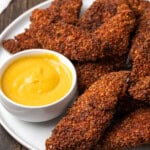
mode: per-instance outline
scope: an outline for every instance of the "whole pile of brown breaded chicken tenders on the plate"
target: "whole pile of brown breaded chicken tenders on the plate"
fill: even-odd
[[[43,48],[75,65],[79,97],[46,140],[47,150],[121,150],[150,144],[150,2],[54,0],[3,41],[10,53]]]

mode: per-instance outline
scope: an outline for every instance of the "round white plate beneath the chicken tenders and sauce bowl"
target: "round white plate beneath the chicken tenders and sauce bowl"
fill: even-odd
[[[94,0],[83,0],[82,12],[87,9]],[[1,42],[3,39],[13,38],[15,35],[24,31],[28,27],[30,21],[29,16],[35,8],[46,8],[52,0],[41,3],[32,9],[25,12],[18,17],[13,23],[11,23],[0,36],[0,66],[10,56],[6,52]],[[81,12],[81,13],[82,13]],[[5,108],[0,104],[0,123],[7,130],[7,132],[13,136],[18,142],[32,150],[44,150],[45,140],[51,135],[52,129],[58,122],[58,118],[44,123],[29,123],[16,119],[9,114]],[[137,148],[136,150],[149,150],[150,146]],[[135,149],[134,149],[135,150]]]

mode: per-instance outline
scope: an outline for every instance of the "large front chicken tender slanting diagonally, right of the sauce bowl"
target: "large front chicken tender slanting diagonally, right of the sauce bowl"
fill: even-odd
[[[81,95],[46,141],[47,150],[90,150],[101,138],[119,97],[127,90],[128,71],[101,77]]]

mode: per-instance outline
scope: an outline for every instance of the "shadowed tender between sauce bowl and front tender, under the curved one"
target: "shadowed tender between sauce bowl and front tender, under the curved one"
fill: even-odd
[[[126,68],[126,55],[102,59],[97,62],[77,62],[74,65],[78,76],[78,90],[81,94],[102,75],[112,71],[124,70]]]

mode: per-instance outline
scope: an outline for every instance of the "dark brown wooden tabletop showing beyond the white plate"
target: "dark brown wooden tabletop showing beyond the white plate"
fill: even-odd
[[[12,0],[9,7],[2,14],[0,14],[0,33],[20,14],[43,1],[44,0]],[[27,149],[15,141],[0,125],[0,150]]]

